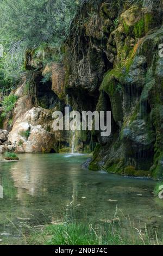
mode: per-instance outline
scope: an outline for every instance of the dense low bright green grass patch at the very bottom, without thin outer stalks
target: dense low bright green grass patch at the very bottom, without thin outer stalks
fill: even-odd
[[[29,245],[162,245],[157,234],[151,238],[145,231],[130,228],[126,233],[120,227],[98,227],[86,223],[51,224],[43,231],[29,236]]]

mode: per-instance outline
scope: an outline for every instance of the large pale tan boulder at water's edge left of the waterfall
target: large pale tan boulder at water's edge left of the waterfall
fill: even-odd
[[[55,152],[55,135],[47,131],[52,121],[52,112],[41,107],[34,107],[17,118],[9,133],[9,140],[15,145],[15,151]]]

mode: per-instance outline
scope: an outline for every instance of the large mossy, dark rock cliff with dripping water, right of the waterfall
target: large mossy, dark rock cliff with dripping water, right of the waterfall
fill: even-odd
[[[124,4],[120,14],[115,1],[101,1],[98,9],[85,5],[82,15],[82,36],[72,31],[79,44],[65,63],[66,92],[74,109],[112,112],[111,135],[92,132],[97,147],[89,168],[163,177],[160,8]]]

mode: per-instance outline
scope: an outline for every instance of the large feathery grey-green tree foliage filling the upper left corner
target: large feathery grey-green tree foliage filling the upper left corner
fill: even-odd
[[[2,0],[0,2],[0,43],[4,47],[0,79],[17,81],[25,71],[23,62],[32,52],[47,44],[60,54],[77,10],[85,0]],[[39,48],[39,51],[41,49]],[[1,74],[2,73],[2,74]]]

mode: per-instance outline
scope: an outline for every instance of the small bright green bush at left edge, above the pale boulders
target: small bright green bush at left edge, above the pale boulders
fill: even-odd
[[[2,108],[3,108],[3,113],[1,114],[2,117],[6,117],[8,112],[12,111],[16,101],[17,101],[17,97],[15,95],[9,95],[4,97],[4,100],[2,102]]]

